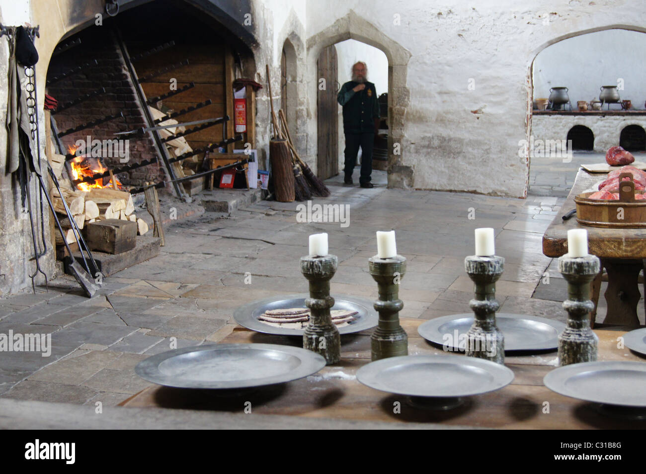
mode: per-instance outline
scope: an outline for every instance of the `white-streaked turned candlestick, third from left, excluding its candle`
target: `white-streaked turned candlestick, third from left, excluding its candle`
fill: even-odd
[[[464,270],[475,283],[475,299],[469,302],[474,324],[466,332],[466,355],[505,363],[505,338],[495,325],[500,308],[495,299],[495,282],[503,274],[505,259],[492,255],[471,255],[464,259]]]

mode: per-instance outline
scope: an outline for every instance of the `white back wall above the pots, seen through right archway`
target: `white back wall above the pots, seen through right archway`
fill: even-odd
[[[633,109],[646,101],[646,34],[605,30],[560,41],[534,61],[534,98],[550,96],[550,87],[568,87],[572,107],[599,98],[602,85],[620,85],[621,100]],[[618,106],[612,106],[616,109]]]

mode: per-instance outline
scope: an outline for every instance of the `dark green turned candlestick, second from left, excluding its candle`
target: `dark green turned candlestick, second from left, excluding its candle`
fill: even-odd
[[[368,268],[379,287],[379,299],[375,301],[379,325],[370,336],[371,358],[408,356],[408,336],[399,324],[399,312],[404,307],[399,299],[399,281],[406,273],[406,257],[382,259],[375,255],[368,260]]]

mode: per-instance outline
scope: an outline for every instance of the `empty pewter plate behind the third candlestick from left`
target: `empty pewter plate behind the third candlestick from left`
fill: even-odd
[[[451,314],[422,323],[417,332],[446,350],[464,351],[466,338],[461,335],[466,334],[473,323],[473,313]],[[505,336],[505,352],[557,349],[558,336],[565,329],[565,324],[559,321],[526,314],[497,313],[495,323]]]

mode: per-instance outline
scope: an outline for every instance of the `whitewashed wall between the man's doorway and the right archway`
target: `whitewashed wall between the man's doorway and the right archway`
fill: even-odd
[[[519,160],[517,147],[531,124],[532,61],[548,45],[582,32],[613,25],[645,30],[646,3],[310,1],[308,38],[341,34],[344,21],[358,25],[344,20],[351,15],[411,54],[405,83],[410,103],[404,104],[402,154],[396,157],[398,169],[412,175],[408,186],[523,197],[528,162]],[[377,36],[370,28],[350,28],[350,38],[377,42]],[[307,60],[310,66],[315,61]],[[308,90],[315,79],[310,72]],[[309,136],[315,137],[313,95],[308,109]],[[316,144],[307,145],[307,155],[315,156]]]

